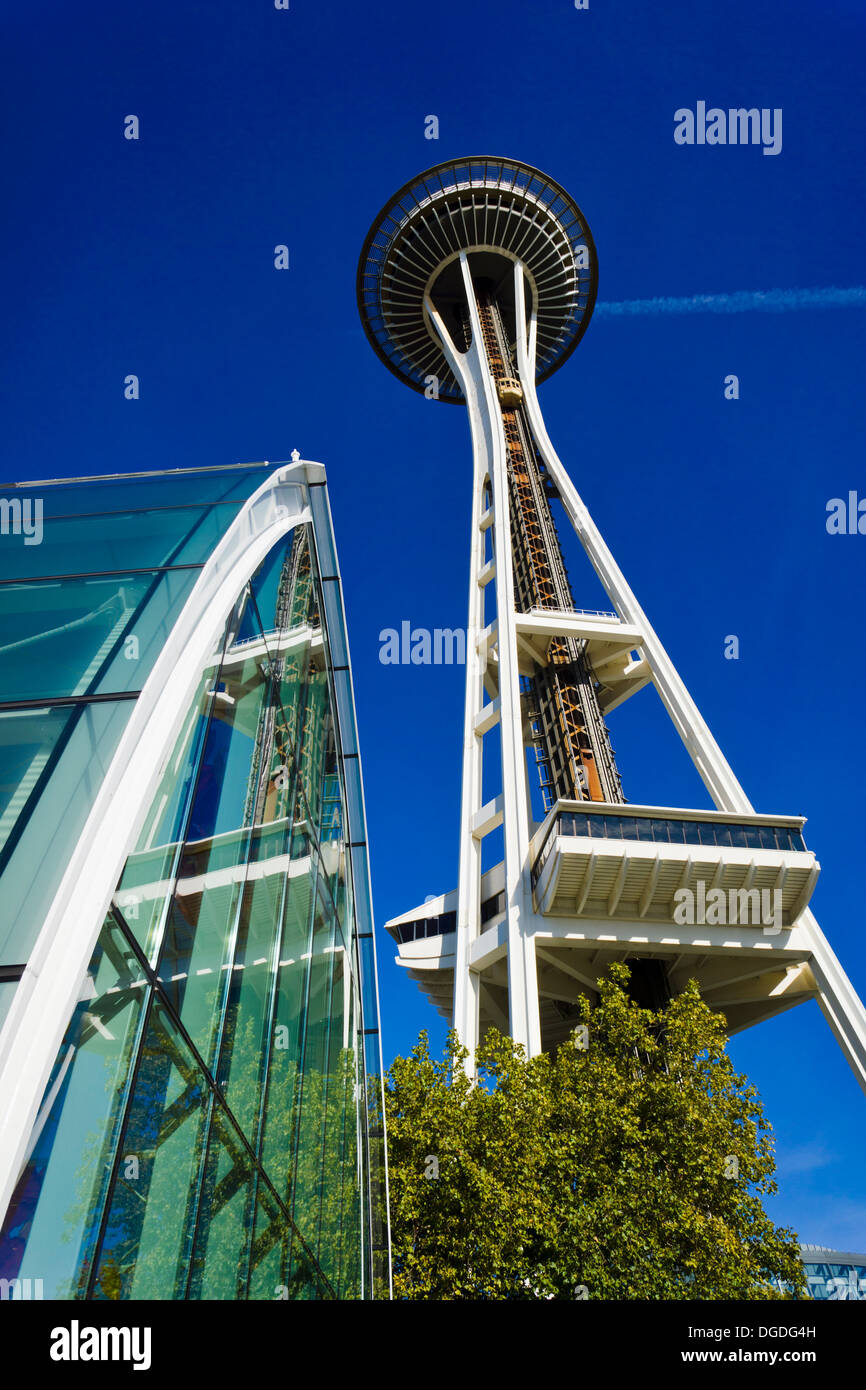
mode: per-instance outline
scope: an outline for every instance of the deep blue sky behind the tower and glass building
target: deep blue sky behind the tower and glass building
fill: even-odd
[[[3,481],[295,448],[327,464],[379,922],[456,881],[461,671],[382,666],[378,634],[466,621],[471,477],[463,411],[400,386],[363,336],[368,224],[423,168],[506,154],[581,204],[599,300],[862,286],[865,29],[858,0],[3,0]],[[781,153],[676,145],[699,100],[781,108]],[[866,495],[863,327],[862,303],[599,313],[542,389],[746,792],[809,817],[813,905],[860,994],[866,538],[824,518]],[[610,724],[631,801],[708,803],[652,691]],[[379,962],[386,1061],[421,1026],[438,1044],[386,938]],[[776,1127],[774,1218],[866,1248],[866,1102],[817,1006],[731,1052]]]

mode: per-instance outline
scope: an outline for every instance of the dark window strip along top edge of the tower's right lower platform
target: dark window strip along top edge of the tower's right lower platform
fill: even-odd
[[[620,812],[560,810],[553,817],[532,865],[532,887],[557,835],[588,840],[638,840],[666,845],[712,845],[734,849],[806,852],[802,833],[774,821],[763,824],[721,820],[678,820],[666,816],[623,816]]]

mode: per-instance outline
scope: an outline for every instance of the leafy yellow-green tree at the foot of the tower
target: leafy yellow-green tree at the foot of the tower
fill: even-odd
[[[653,1013],[612,966],[556,1055],[423,1033],[386,1073],[398,1298],[778,1298],[771,1130],[695,981]]]

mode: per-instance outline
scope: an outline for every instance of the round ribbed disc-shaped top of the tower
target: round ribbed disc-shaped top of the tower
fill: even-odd
[[[503,289],[525,270],[538,318],[537,379],[545,381],[580,342],[595,304],[595,245],[574,199],[546,174],[517,160],[470,157],[427,170],[388,200],[364,242],[357,302],[367,338],[413,391],[435,375],[438,399],[461,402],[427,296],[449,322],[463,310],[460,253],[473,275]],[[509,314],[512,322],[509,325]]]

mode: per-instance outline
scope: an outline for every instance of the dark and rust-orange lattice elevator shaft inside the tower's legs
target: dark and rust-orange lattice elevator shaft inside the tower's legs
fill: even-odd
[[[574,609],[571,585],[550,512],[542,464],[514,379],[512,354],[495,297],[477,292],[488,366],[496,382],[507,449],[514,602],[532,609]],[[556,799],[621,802],[620,776],[598,703],[587,642],[556,637],[548,663],[528,677],[528,727],[545,810]]]

